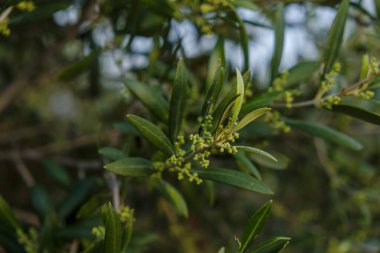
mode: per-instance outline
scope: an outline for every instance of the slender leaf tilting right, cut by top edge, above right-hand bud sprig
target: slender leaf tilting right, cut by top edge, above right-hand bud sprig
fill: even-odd
[[[325,66],[323,71],[324,74],[330,72],[334,61],[338,56],[339,49],[343,40],[344,27],[346,25],[349,7],[350,1],[343,0],[329,31],[327,44],[322,59],[322,63]]]

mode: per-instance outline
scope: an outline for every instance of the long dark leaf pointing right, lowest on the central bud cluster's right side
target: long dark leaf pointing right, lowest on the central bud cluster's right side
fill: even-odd
[[[272,190],[262,181],[240,171],[214,168],[192,170],[192,172],[198,173],[199,177],[203,179],[235,186],[248,191],[273,194]]]

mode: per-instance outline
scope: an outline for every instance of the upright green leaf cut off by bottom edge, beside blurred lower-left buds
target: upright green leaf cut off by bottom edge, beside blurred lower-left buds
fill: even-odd
[[[105,216],[105,237],[103,252],[104,253],[120,253],[121,252],[121,224],[119,216],[108,203],[103,207]]]

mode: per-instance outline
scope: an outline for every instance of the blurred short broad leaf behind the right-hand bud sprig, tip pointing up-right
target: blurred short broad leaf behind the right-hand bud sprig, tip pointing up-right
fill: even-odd
[[[320,63],[317,61],[304,61],[296,64],[289,69],[286,79],[286,88],[291,88],[305,82],[319,69]]]

